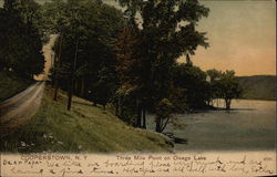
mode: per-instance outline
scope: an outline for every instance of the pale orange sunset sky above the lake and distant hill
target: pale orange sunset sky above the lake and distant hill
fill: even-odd
[[[192,56],[202,70],[234,70],[236,75],[276,74],[275,0],[202,0],[208,18],[197,29],[207,32],[209,48]],[[184,62],[185,58],[178,61]]]

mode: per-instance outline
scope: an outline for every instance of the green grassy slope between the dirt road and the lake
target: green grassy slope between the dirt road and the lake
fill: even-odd
[[[3,152],[168,152],[170,142],[157,134],[127,126],[92,103],[73,97],[71,112],[66,96],[52,101],[53,90],[45,87],[42,105],[23,127],[4,137]]]

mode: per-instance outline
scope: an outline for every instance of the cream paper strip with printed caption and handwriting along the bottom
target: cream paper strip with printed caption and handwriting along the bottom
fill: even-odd
[[[227,46],[226,46],[227,48]],[[197,52],[196,52],[197,53]],[[246,65],[249,70],[248,65]],[[2,154],[2,177],[274,176],[275,150],[168,154]]]

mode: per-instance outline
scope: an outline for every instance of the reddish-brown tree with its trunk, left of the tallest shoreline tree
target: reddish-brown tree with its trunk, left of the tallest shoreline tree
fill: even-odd
[[[125,27],[116,40],[116,71],[119,73],[122,96],[134,95],[135,101],[133,103],[135,105],[127,104],[126,106],[136,116],[135,125],[146,128],[146,108],[142,104],[145,63],[141,60],[140,44],[140,31],[132,25]],[[123,104],[120,105],[124,106]],[[133,107],[135,108],[133,110]]]

